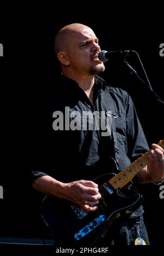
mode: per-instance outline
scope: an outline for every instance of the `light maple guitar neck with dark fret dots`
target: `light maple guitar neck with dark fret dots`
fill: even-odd
[[[164,149],[164,139],[160,141],[158,145]],[[109,183],[113,186],[113,188],[122,188],[128,182],[132,181],[134,176],[136,176],[136,174],[148,164],[148,154],[150,150],[109,180]]]

